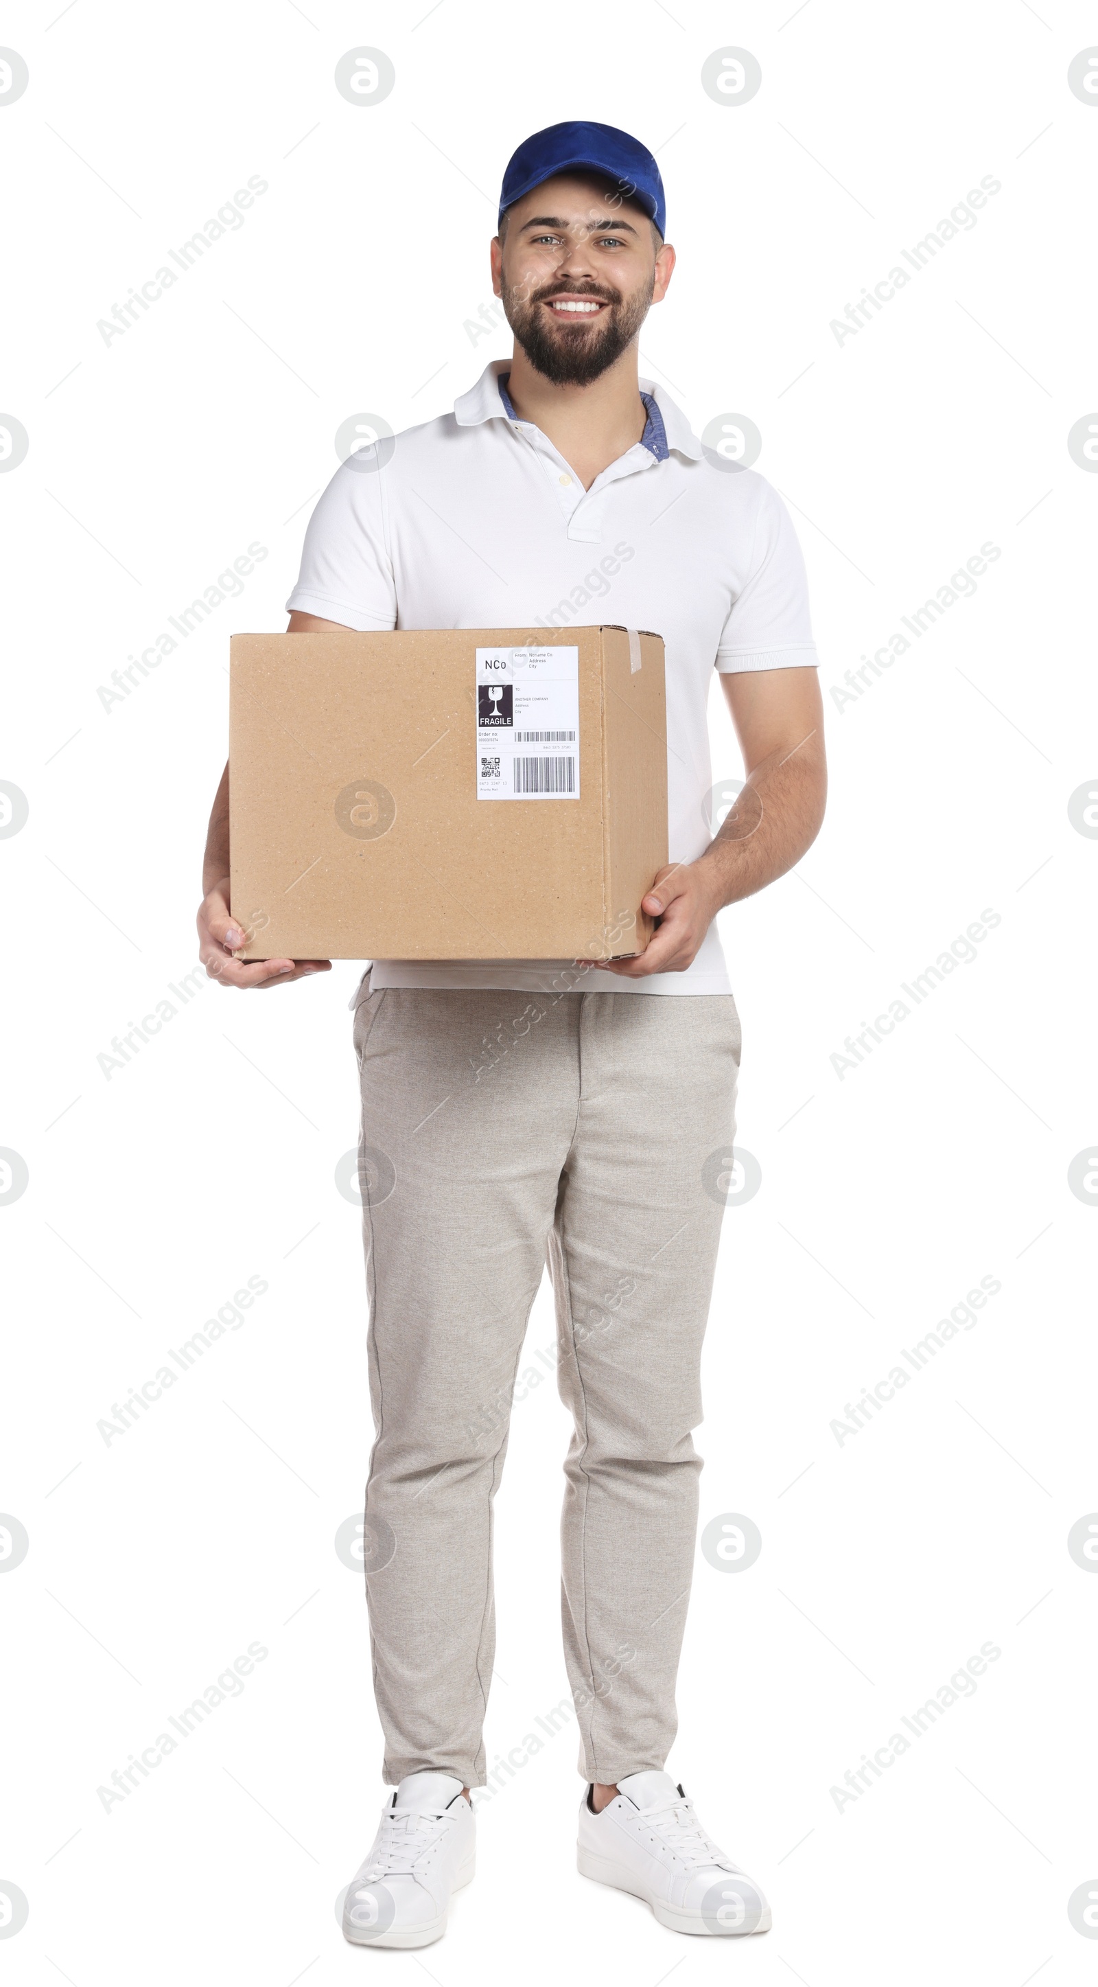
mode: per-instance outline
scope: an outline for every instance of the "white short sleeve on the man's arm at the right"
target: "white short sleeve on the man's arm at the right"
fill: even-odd
[[[717,670],[814,670],[820,666],[808,616],[808,580],[792,519],[774,489],[755,521],[751,570],[717,644]]]

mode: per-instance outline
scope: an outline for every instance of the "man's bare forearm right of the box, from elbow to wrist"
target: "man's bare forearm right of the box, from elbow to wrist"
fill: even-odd
[[[727,821],[697,862],[717,908],[764,890],[800,862],[820,833],[826,791],[818,733],[753,767]]]

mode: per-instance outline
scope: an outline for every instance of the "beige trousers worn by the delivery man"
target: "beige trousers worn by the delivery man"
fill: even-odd
[[[562,1615],[580,1772],[612,1784],[661,1768],[697,1530],[691,1429],[723,1216],[707,1182],[733,1143],[735,1001],[369,992],[367,976],[353,1033],[385,1778],[433,1768],[484,1784],[492,1498],[546,1252],[574,1419]]]

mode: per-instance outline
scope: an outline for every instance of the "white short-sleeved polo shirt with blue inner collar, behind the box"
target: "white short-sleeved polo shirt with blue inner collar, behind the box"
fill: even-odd
[[[349,457],[312,513],[286,606],[347,628],[524,628],[619,622],[663,636],[667,846],[713,839],[713,670],[816,666],[804,560],[780,497],[719,469],[663,387],[647,427],[590,491],[500,397],[492,360],[453,413]],[[685,974],[627,980],[566,960],[375,960],[373,988],[729,994],[717,924]]]

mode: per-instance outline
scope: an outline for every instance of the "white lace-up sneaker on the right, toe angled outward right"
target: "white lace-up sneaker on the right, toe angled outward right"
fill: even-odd
[[[743,1935],[770,1929],[758,1884],[705,1834],[669,1772],[631,1772],[596,1814],[580,1802],[580,1876],[631,1890],[671,1931]]]

